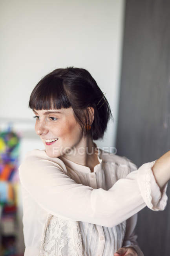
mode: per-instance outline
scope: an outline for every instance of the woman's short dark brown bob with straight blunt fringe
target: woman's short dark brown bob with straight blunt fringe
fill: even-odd
[[[106,97],[86,69],[67,67],[53,70],[37,83],[29,98],[29,108],[34,110],[69,107],[73,108],[79,123],[81,139],[90,135],[92,140],[103,140],[108,121],[113,116]],[[88,107],[94,108],[92,124]],[[86,129],[87,124],[91,125],[90,130]]]

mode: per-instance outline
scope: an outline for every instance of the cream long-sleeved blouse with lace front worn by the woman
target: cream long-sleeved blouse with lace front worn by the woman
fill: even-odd
[[[93,173],[64,156],[27,152],[19,166],[24,256],[113,256],[128,245],[143,256],[137,212],[164,210],[168,183],[161,193],[151,169],[156,160],[137,169],[128,158],[98,149]]]

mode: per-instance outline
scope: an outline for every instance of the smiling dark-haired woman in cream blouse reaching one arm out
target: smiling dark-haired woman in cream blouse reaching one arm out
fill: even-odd
[[[137,212],[165,209],[170,177],[167,167],[160,172],[168,160],[137,170],[128,158],[97,147],[93,140],[103,139],[112,114],[85,69],[44,76],[29,108],[45,150],[28,152],[19,167],[24,256],[143,256]]]

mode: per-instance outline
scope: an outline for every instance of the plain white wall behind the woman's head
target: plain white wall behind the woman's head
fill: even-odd
[[[82,67],[106,93],[115,120],[110,121],[104,142],[97,145],[113,146],[123,14],[123,0],[1,1],[1,124],[29,121],[34,133],[28,102],[37,82],[53,69]]]

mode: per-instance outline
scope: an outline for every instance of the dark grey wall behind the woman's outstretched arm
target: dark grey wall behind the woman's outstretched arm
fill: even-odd
[[[170,1],[128,0],[124,22],[116,148],[140,167],[170,150]],[[136,232],[144,256],[170,255],[169,199],[141,210]]]

